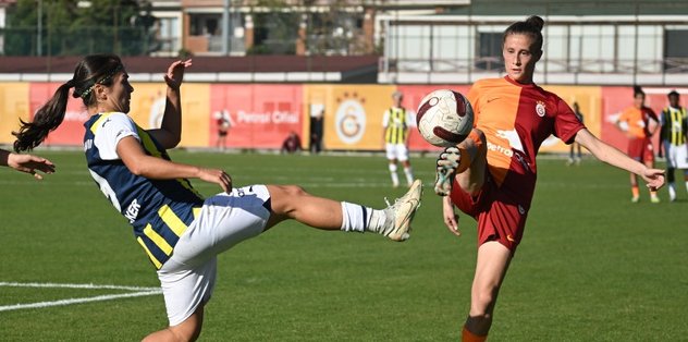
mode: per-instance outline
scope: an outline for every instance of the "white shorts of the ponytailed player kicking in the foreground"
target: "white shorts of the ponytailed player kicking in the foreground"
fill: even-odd
[[[260,234],[269,217],[270,193],[265,185],[234,188],[229,195],[206,199],[170,259],[158,270],[171,327],[210,300],[217,255]]]

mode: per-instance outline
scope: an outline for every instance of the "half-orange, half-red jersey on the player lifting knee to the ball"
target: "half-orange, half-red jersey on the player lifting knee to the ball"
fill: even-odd
[[[502,191],[513,192],[529,207],[542,142],[554,135],[570,144],[585,125],[555,94],[508,76],[478,81],[467,97],[475,112],[474,124],[488,141],[492,178]]]

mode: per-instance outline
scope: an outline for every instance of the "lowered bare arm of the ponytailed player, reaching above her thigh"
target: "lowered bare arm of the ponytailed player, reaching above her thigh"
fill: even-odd
[[[226,172],[148,156],[134,136],[123,137],[116,145],[116,154],[136,175],[151,180],[200,179],[220,185],[224,192],[232,190],[232,178]]]

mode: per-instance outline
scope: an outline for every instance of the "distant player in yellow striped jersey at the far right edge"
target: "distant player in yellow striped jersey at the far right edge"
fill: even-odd
[[[676,90],[672,90],[667,97],[668,107],[662,110],[660,117],[660,152],[664,149],[668,199],[674,201],[676,200],[674,170],[684,170],[684,181],[688,190],[688,114],[686,114],[686,108],[680,107],[679,95]]]

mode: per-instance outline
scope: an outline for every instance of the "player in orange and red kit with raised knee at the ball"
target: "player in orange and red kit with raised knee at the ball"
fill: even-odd
[[[481,80],[468,93],[475,129],[438,159],[435,192],[447,228],[459,235],[454,205],[478,221],[478,258],[463,341],[484,341],[500,285],[520,243],[536,184],[536,155],[550,134],[579,143],[598,159],[642,176],[651,190],[663,171],[649,169],[594,137],[558,96],[532,82],[542,56],[539,16],[504,32],[506,76]],[[446,176],[445,176],[446,175]],[[455,176],[454,176],[455,175]]]

